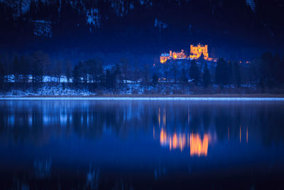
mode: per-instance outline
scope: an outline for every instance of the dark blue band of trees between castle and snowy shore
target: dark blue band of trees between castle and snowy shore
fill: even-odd
[[[263,53],[251,63],[219,58],[217,63],[204,58],[187,60],[184,63],[170,60],[165,64],[131,64],[121,58],[114,65],[104,64],[101,58],[80,61],[72,65],[70,60],[50,60],[48,53],[36,51],[31,55],[15,54],[13,58],[0,57],[0,88],[33,88],[38,90],[44,83],[44,76],[57,78],[73,88],[116,89],[128,83],[141,85],[179,84],[208,88],[218,85],[221,88],[239,88],[253,84],[258,88],[282,87],[284,83],[284,58],[278,54]],[[62,76],[65,81],[62,81]],[[13,79],[11,79],[13,78]],[[54,81],[52,83],[55,83]]]

